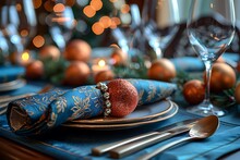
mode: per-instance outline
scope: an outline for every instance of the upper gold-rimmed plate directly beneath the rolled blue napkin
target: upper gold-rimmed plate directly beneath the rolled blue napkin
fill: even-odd
[[[161,100],[147,106],[139,106],[135,111],[124,118],[93,118],[88,120],[73,120],[71,123],[77,124],[118,124],[146,121],[169,112],[172,103],[169,100]]]

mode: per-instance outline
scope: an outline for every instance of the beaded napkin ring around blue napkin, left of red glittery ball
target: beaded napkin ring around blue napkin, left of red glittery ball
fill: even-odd
[[[109,100],[110,94],[108,93],[108,86],[106,84],[103,84],[103,83],[97,83],[96,88],[99,89],[103,94],[103,97],[105,99],[104,115],[108,116],[111,113],[111,102]]]

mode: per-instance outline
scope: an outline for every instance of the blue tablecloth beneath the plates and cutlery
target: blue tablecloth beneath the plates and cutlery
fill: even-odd
[[[28,83],[27,86],[11,91],[11,95],[22,94],[25,91],[37,91],[44,84]],[[163,127],[173,122],[199,118],[187,113],[183,106],[179,103],[180,111],[171,119],[145,125],[136,128],[129,128],[122,131],[87,131],[79,128],[57,127],[50,133],[37,137],[23,137],[17,136],[10,131],[7,123],[5,115],[0,116],[0,135],[8,137],[14,141],[23,144],[27,147],[36,149],[46,155],[52,156],[58,159],[110,159],[108,155],[103,157],[94,157],[91,155],[93,147],[129,138],[155,128]],[[159,155],[160,159],[216,159],[229,151],[240,148],[240,112],[238,108],[226,116],[220,118],[220,126],[215,135],[203,141],[189,143],[180,147],[166,150]],[[136,153],[133,153],[123,159],[136,159],[143,153],[152,151],[173,139],[187,136],[187,134],[176,136],[171,139],[165,140]]]

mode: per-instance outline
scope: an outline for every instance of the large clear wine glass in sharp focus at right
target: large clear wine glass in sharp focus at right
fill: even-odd
[[[213,63],[225,52],[235,36],[233,0],[193,0],[187,23],[190,44],[205,64],[206,94],[204,101],[188,111],[201,115],[221,116],[224,110],[211,103],[209,82]]]

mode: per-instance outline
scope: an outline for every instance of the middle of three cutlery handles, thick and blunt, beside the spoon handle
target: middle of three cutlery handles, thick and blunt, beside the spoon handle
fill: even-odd
[[[159,143],[161,140],[165,140],[167,138],[170,138],[172,136],[173,136],[173,134],[171,134],[171,133],[163,133],[163,134],[158,134],[158,135],[153,135],[151,137],[146,137],[141,140],[133,141],[133,143],[117,147],[117,148],[110,150],[109,153],[110,153],[111,158],[119,159],[119,158],[129,156],[135,151],[139,151],[147,146],[151,146],[151,145],[154,145],[154,144]]]

